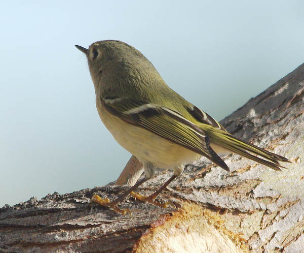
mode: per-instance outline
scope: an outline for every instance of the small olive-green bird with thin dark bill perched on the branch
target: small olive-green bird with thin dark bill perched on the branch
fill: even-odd
[[[226,171],[229,168],[217,153],[237,153],[274,170],[283,167],[279,161],[289,162],[227,133],[220,123],[172,90],[134,47],[114,40],[95,42],[89,49],[76,47],[87,56],[102,122],[144,166],[145,179],[119,201],[151,178],[155,167],[173,170],[173,177],[148,200],[154,199],[183,172],[185,164],[202,155]],[[98,196],[93,201],[110,207],[119,202],[109,204]]]

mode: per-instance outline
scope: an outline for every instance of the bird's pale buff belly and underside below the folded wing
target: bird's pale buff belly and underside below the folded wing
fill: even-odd
[[[159,168],[175,171],[179,170],[178,167],[201,157],[201,154],[125,122],[105,109],[101,111],[99,107],[102,105],[98,100],[96,106],[102,122],[115,140],[142,163],[149,162]],[[216,152],[222,153],[223,151],[216,144],[211,144],[211,147]]]

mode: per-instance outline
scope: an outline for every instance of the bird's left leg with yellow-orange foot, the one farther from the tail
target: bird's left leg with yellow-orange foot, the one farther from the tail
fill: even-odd
[[[98,195],[93,195],[91,202],[96,202],[102,206],[112,208],[116,212],[119,212],[123,215],[125,215],[127,213],[132,215],[131,211],[129,209],[119,209],[117,207],[117,204],[119,204],[121,201],[123,201],[130,193],[132,193],[139,185],[144,183],[146,180],[148,180],[148,179],[147,178],[141,179],[136,184],[134,184],[130,189],[128,189],[128,191],[126,191],[123,195],[121,195],[119,198],[117,198],[116,200],[114,200],[112,202],[110,202],[110,200],[108,198],[102,199]]]

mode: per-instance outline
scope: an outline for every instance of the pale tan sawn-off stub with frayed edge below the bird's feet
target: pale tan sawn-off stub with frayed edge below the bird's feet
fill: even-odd
[[[217,211],[185,202],[172,216],[151,226],[133,252],[248,252],[242,235],[223,224]]]

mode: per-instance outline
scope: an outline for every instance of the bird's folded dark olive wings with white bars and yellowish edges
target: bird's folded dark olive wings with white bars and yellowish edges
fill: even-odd
[[[229,168],[224,161],[210,147],[209,137],[205,135],[204,130],[199,128],[192,121],[183,117],[179,112],[164,106],[158,106],[143,101],[134,101],[128,98],[100,99],[105,109],[112,115],[115,115],[130,124],[136,125],[137,127],[144,128],[189,150],[204,155],[221,168],[229,171]],[[206,121],[206,117],[202,111],[200,112],[194,109],[192,111],[190,110],[189,113],[193,113],[195,115],[193,117],[198,118],[198,121]],[[201,119],[200,113],[203,114]],[[221,128],[220,124],[215,122],[213,123],[216,124],[218,128]]]

